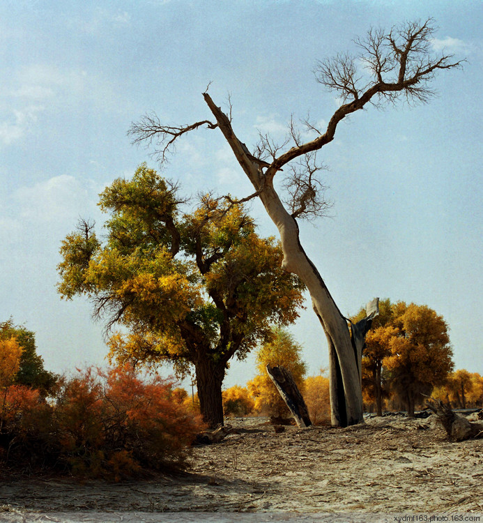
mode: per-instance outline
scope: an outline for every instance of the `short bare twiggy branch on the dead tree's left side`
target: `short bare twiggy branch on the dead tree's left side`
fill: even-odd
[[[176,139],[201,126],[215,129],[217,123],[203,120],[185,126],[164,126],[153,112],[142,116],[138,122],[132,123],[128,130],[128,136],[134,137],[132,144],[143,143],[146,144],[146,147],[149,147],[154,143],[157,149],[153,151],[151,156],[155,157],[160,163],[164,163],[167,161],[167,155],[174,149]]]

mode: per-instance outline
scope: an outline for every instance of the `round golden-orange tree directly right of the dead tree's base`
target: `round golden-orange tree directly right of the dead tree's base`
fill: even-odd
[[[445,383],[452,349],[443,317],[427,305],[380,301],[362,353],[362,386],[382,415],[383,397],[392,392],[414,414],[415,402]],[[365,312],[361,309],[352,321]]]

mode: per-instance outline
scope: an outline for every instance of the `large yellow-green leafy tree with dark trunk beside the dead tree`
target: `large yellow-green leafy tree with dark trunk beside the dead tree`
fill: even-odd
[[[100,195],[110,217],[101,243],[81,222],[61,246],[59,292],[91,298],[96,317],[129,334],[109,340],[118,363],[194,367],[201,414],[223,423],[222,382],[243,359],[298,317],[303,285],[281,268],[282,250],[261,238],[243,204],[205,195],[182,213],[176,186],[141,165]]]

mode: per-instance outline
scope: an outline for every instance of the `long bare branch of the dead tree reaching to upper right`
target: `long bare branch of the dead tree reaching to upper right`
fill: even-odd
[[[363,109],[368,103],[381,105],[404,98],[409,103],[427,102],[434,95],[429,82],[440,70],[461,68],[464,60],[453,61],[451,54],[436,56],[431,50],[434,34],[432,20],[408,22],[392,28],[369,30],[364,40],[356,40],[362,50],[358,60],[366,66],[371,78],[362,85],[357,61],[347,54],[319,62],[317,81],[335,91],[344,103],[335,111],[323,135],[311,142],[298,144],[276,158],[266,171],[270,177],[286,163],[311,151],[321,149],[334,139],[337,125],[349,114]]]

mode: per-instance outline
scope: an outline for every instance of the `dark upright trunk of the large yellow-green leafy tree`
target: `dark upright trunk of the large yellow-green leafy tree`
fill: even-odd
[[[222,383],[224,367],[210,361],[209,356],[200,358],[194,365],[197,377],[199,409],[209,427],[223,425]]]

